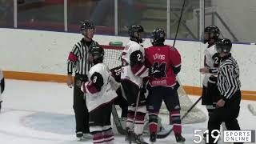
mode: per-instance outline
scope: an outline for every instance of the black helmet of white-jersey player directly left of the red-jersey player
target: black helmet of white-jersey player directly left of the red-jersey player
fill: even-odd
[[[140,38],[140,33],[143,33],[144,29],[141,25],[132,25],[129,27],[128,34],[130,36],[130,40],[142,43],[143,39]]]

